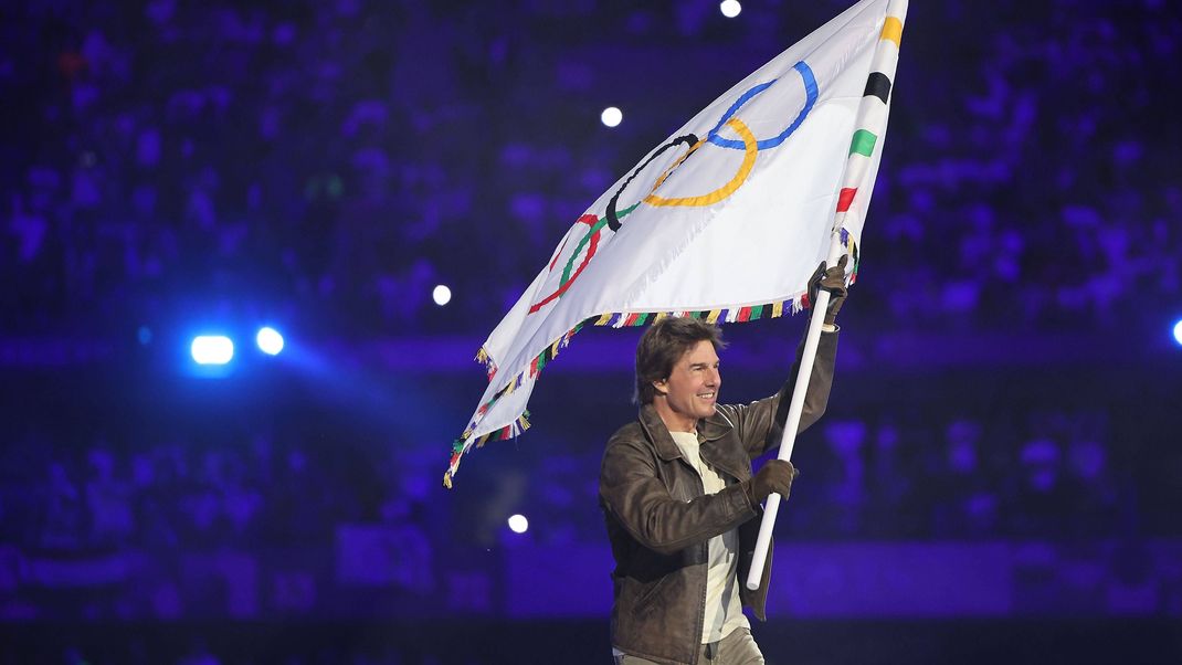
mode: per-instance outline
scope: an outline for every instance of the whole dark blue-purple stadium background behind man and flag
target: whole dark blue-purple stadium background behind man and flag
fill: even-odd
[[[846,6],[2,4],[0,663],[608,661],[639,333],[580,332],[446,491],[469,359],[585,206]],[[1180,50],[1164,0],[913,4],[771,663],[1182,661]],[[804,324],[728,325],[723,398]]]

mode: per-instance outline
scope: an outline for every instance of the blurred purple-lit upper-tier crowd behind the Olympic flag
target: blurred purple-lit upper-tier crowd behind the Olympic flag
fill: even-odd
[[[845,2],[749,5],[22,2],[0,28],[0,332],[245,299],[363,335],[491,324],[703,96]],[[865,315],[1038,331],[1176,299],[1180,46],[1160,0],[914,17]]]

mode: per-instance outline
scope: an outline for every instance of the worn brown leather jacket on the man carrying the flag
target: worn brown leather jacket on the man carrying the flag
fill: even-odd
[[[799,372],[803,350],[801,343],[790,377]],[[823,333],[800,430],[825,411],[836,352],[837,333]],[[681,458],[651,404],[642,406],[639,418],[608,442],[599,506],[616,559],[611,609],[616,648],[656,663],[696,665],[706,620],[707,543],[734,528],[739,529],[736,583],[742,604],[766,620],[772,553],[759,589],[748,591],[760,523],[754,517],[761,516],[762,508],[751,506],[742,482],[752,477],[751,461],[779,445],[793,383],[788,380],[778,395],[759,402],[719,405],[714,416],[697,423],[702,459],[736,481],[717,494],[703,495],[701,477]]]

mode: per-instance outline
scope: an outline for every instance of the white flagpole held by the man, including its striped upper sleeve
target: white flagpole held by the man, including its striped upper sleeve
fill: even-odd
[[[885,74],[886,79],[891,83],[895,79],[895,66],[898,64],[898,41],[903,22],[907,20],[907,4],[908,0],[890,0],[888,2],[883,32],[878,39],[878,44],[875,46],[875,57],[870,67],[871,72]],[[891,22],[892,20],[895,24]],[[878,120],[877,124],[881,126],[872,129],[881,137],[882,131],[885,129],[885,115],[879,113],[884,104],[882,99],[873,94],[864,96],[862,103],[858,105],[855,129],[865,129],[868,120],[873,118]],[[862,158],[860,155],[850,154],[845,167],[845,175],[842,178],[843,190],[846,188],[857,188],[862,183],[868,163],[869,159]],[[862,193],[862,196],[870,196],[870,193]],[[833,233],[829,245],[826,266],[834,266],[844,250],[840,240],[844,220],[845,211],[838,211],[833,220]],[[850,260],[852,261],[853,257],[851,256]],[[817,293],[817,301],[812,304],[812,314],[808,318],[808,334],[805,337],[805,351],[800,357],[800,370],[797,374],[797,383],[792,389],[788,418],[784,424],[784,436],[780,439],[779,458],[784,461],[792,458],[792,448],[797,442],[797,429],[800,426],[800,415],[804,411],[805,395],[808,392],[808,379],[812,377],[812,366],[817,358],[817,345],[820,343],[820,327],[825,322],[829,298],[829,292],[820,289]],[[752,591],[759,588],[759,583],[764,576],[764,565],[767,561],[767,549],[772,543],[772,530],[775,527],[775,513],[779,508],[780,495],[773,494],[768,496],[767,503],[764,504],[764,521],[759,526],[759,536],[755,540],[755,556],[752,559],[751,572],[747,574],[747,588]]]

